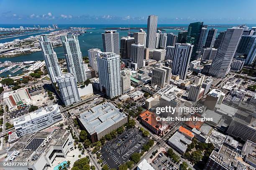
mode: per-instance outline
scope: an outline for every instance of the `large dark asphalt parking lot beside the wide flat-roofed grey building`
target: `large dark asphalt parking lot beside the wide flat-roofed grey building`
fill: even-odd
[[[140,152],[147,141],[148,138],[144,138],[137,128],[125,130],[123,134],[118,135],[117,138],[102,147],[100,159],[109,168],[118,168],[127,162],[133,153]]]

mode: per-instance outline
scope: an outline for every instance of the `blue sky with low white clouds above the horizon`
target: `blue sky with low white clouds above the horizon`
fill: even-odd
[[[0,0],[0,24],[256,23],[256,0]]]

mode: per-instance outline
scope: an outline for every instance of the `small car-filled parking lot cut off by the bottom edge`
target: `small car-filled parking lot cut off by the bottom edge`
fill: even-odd
[[[163,153],[152,161],[152,166],[155,170],[179,170],[179,163],[173,163],[172,160]]]

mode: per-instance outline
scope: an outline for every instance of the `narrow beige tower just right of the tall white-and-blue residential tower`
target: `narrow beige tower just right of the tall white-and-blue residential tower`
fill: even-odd
[[[121,71],[121,92],[125,95],[131,91],[130,69]]]

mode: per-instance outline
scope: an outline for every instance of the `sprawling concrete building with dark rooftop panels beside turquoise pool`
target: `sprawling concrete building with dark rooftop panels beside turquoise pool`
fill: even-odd
[[[26,162],[19,170],[54,169],[56,158],[68,159],[67,154],[74,150],[74,140],[66,129],[52,132],[36,132],[24,135],[8,150],[4,162]],[[13,170],[13,167],[5,168]]]

